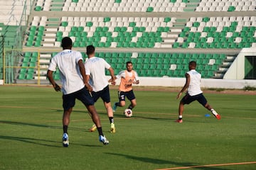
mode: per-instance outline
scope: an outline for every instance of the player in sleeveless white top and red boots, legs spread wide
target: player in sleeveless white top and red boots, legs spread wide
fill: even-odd
[[[201,74],[196,72],[196,62],[191,61],[188,64],[189,72],[186,72],[186,84],[183,86],[181,91],[178,93],[177,99],[181,97],[183,91],[188,89],[186,96],[184,96],[178,107],[178,120],[177,123],[182,123],[182,113],[184,110],[184,105],[189,104],[193,101],[198,101],[201,105],[207,108],[215,118],[220,120],[220,115],[208,104],[205,96],[203,96],[203,91],[201,91]]]

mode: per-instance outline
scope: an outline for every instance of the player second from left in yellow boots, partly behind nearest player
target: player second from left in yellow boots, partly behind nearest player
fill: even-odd
[[[92,86],[92,97],[96,102],[99,98],[102,98],[104,106],[107,110],[107,115],[110,119],[110,132],[115,132],[114,127],[114,115],[112,106],[110,103],[110,89],[108,81],[105,75],[105,69],[108,69],[112,77],[112,84],[115,84],[114,79],[114,69],[108,64],[104,59],[100,57],[95,57],[95,47],[93,45],[88,45],[86,47],[86,54],[88,60],[85,62],[85,74],[86,81]],[[90,131],[96,130],[96,125],[92,125]]]

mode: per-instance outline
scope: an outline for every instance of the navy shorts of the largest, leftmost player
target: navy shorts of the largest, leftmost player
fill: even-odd
[[[75,91],[72,94],[63,95],[63,108],[64,111],[68,111],[68,109],[73,108],[75,106],[75,99],[82,101],[85,106],[94,105],[94,101],[92,96],[90,95],[87,89],[82,88],[79,91]]]

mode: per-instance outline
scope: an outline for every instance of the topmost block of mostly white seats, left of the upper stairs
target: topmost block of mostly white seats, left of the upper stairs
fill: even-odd
[[[189,0],[38,0],[35,11],[183,12]],[[199,2],[200,0],[193,0]],[[62,8],[53,8],[58,4]]]

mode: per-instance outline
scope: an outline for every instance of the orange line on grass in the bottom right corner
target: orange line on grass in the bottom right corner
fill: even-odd
[[[173,169],[191,169],[191,168],[202,168],[211,166],[229,166],[229,165],[241,165],[241,164],[256,164],[256,162],[238,162],[238,163],[228,163],[228,164],[208,164],[208,165],[195,165],[195,166],[182,166],[169,169],[156,169],[156,170],[173,170]]]

